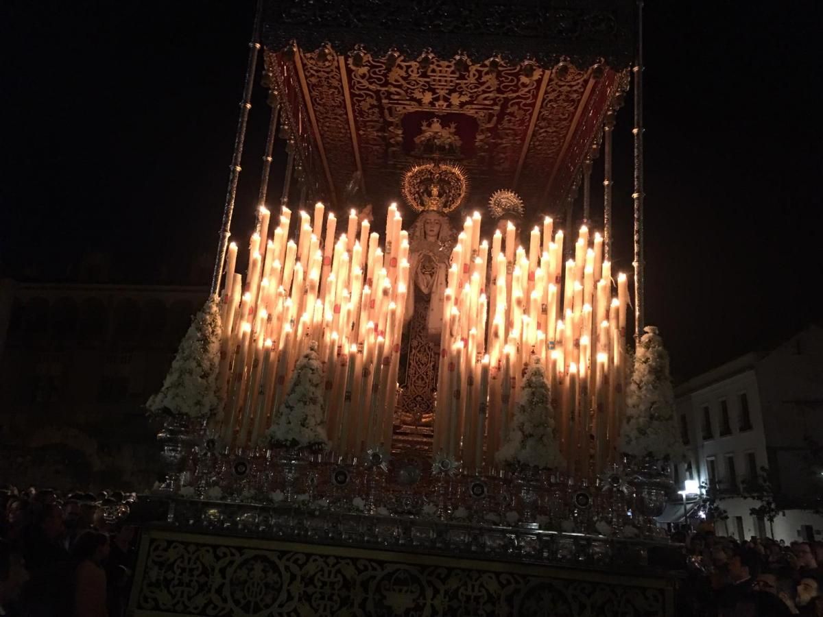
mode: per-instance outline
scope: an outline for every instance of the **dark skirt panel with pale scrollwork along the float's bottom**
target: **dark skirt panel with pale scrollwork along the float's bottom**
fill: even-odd
[[[674,582],[397,550],[147,531],[130,615],[672,615]],[[617,611],[617,612],[615,612]]]

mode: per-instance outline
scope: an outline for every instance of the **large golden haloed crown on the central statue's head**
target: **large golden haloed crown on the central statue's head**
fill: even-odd
[[[403,174],[403,198],[417,212],[453,211],[467,192],[466,172],[453,163],[423,163]]]

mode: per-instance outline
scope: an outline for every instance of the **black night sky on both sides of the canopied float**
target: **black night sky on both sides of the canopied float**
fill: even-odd
[[[252,0],[14,0],[0,12],[0,275],[77,281],[78,264],[103,253],[109,282],[207,284]],[[816,2],[646,3],[647,322],[676,378],[821,322],[821,26]],[[241,238],[267,112],[258,87]],[[631,113],[629,97],[615,270],[631,262]]]

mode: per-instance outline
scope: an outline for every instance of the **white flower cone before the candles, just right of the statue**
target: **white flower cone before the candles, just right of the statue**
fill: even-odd
[[[556,469],[563,465],[563,456],[554,431],[546,373],[535,363],[529,366],[523,379],[514,420],[496,458],[509,465]]]

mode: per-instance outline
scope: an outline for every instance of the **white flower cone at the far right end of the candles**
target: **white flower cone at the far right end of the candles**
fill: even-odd
[[[644,332],[626,392],[621,452],[635,457],[677,459],[682,457],[683,443],[677,430],[668,354],[656,327],[644,327]]]

